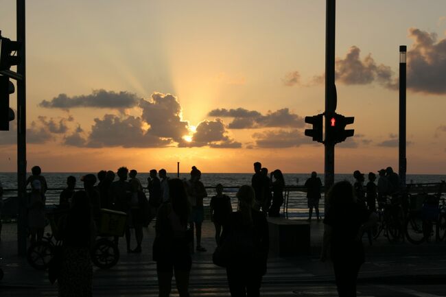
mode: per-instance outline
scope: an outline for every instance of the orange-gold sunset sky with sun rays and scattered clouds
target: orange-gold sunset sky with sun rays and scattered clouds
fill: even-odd
[[[15,3],[0,0],[12,40]],[[28,170],[323,171],[303,118],[325,108],[325,0],[44,0],[26,14]],[[338,173],[398,167],[399,45],[408,173],[446,173],[444,0],[337,1],[337,112],[355,117]],[[0,171],[16,171],[16,121]]]

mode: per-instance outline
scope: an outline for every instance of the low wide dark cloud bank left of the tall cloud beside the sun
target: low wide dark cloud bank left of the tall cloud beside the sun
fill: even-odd
[[[169,139],[161,139],[143,130],[143,121],[139,117],[118,117],[104,115],[95,119],[86,146],[88,147],[163,147],[169,145]]]

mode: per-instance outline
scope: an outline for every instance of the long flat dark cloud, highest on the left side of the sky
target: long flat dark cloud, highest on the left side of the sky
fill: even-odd
[[[60,108],[68,110],[69,108],[115,108],[125,109],[137,106],[139,98],[134,93],[113,92],[104,89],[93,90],[90,95],[79,95],[69,97],[67,94],[59,94],[50,101],[43,100],[39,106],[44,108]]]

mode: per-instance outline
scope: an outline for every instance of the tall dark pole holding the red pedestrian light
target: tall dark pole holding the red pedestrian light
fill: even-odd
[[[327,0],[327,16],[325,30],[325,198],[334,183],[334,141],[327,137],[329,119],[336,111],[335,87],[335,32],[336,32],[336,0]],[[328,140],[328,141],[327,141]],[[325,199],[327,210],[327,199]]]

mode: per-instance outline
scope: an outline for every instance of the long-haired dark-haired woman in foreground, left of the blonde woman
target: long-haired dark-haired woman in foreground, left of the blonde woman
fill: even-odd
[[[178,178],[169,180],[168,184],[170,197],[166,203],[161,204],[156,215],[156,238],[153,245],[159,296],[169,296],[175,273],[180,297],[188,297],[192,261],[187,237],[187,193],[183,181]]]

